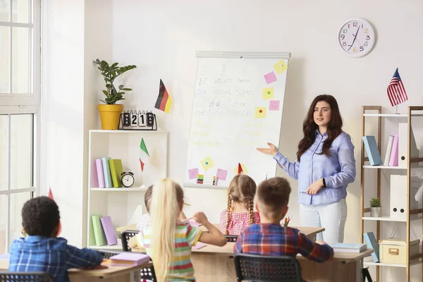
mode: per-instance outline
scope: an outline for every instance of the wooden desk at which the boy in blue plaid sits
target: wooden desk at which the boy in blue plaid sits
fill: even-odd
[[[139,282],[141,281],[140,270],[152,266],[152,262],[147,262],[139,266],[110,266],[109,261],[102,265],[107,269],[69,269],[68,275],[71,282]],[[8,259],[0,259],[0,270],[8,269]]]

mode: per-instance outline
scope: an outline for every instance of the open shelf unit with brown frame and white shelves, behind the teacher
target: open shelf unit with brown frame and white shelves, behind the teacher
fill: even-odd
[[[364,142],[361,142],[361,216],[362,221],[360,224],[360,234],[364,233],[364,221],[376,221],[376,241],[379,242],[381,238],[381,222],[384,221],[394,221],[394,222],[405,222],[407,229],[406,229],[406,238],[405,241],[408,245],[410,245],[410,223],[411,221],[415,219],[422,219],[421,214],[423,214],[423,209],[410,209],[410,176],[411,176],[411,168],[419,167],[418,164],[423,162],[423,158],[417,157],[417,158],[411,158],[410,156],[410,131],[412,128],[412,117],[422,117],[423,114],[414,114],[415,111],[418,111],[419,113],[422,113],[423,106],[408,106],[407,114],[382,114],[381,113],[382,107],[381,106],[362,106],[362,136],[366,135],[366,123],[365,118],[366,117],[376,117],[378,124],[377,124],[377,131],[378,136],[377,138],[377,144],[379,152],[381,152],[381,122],[382,118],[403,118],[406,119],[408,124],[408,152],[407,152],[407,167],[400,167],[400,166],[369,166],[369,158],[364,157]],[[376,114],[369,114],[366,111],[378,111]],[[414,112],[414,113],[413,113]],[[374,121],[374,120],[373,120]],[[398,123],[396,121],[396,123]],[[403,121],[405,122],[405,121]],[[417,166],[415,166],[417,164]],[[376,179],[376,197],[381,197],[381,169],[393,169],[396,170],[395,174],[403,174],[406,173],[407,175],[407,217],[406,219],[398,219],[398,218],[391,218],[391,216],[382,216],[382,217],[370,217],[370,216],[364,216],[364,214],[370,212],[369,207],[364,207],[364,188],[366,187],[365,183],[365,171],[367,169],[376,169],[377,171],[377,179]],[[385,191],[386,189],[384,189]],[[368,204],[368,202],[366,203]],[[363,236],[361,236],[361,242],[363,243]],[[408,253],[408,252],[407,252]],[[376,279],[375,281],[380,281],[380,268],[379,266],[388,266],[388,267],[401,267],[405,268],[406,271],[406,277],[405,281],[410,282],[410,266],[416,265],[416,264],[422,264],[422,257],[423,257],[423,250],[420,250],[419,255],[413,256],[416,259],[419,258],[417,262],[410,263],[410,259],[408,258],[405,264],[388,264],[388,263],[381,263],[381,262],[373,262],[371,258],[364,259],[364,265],[367,266],[376,266]],[[423,264],[422,264],[422,275],[423,275]]]

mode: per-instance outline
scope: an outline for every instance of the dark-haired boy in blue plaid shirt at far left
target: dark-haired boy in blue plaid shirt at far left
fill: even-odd
[[[23,205],[22,225],[27,236],[13,241],[9,271],[45,271],[54,281],[69,281],[68,269],[102,263],[95,250],[78,249],[58,238],[59,207],[49,197],[36,197]]]

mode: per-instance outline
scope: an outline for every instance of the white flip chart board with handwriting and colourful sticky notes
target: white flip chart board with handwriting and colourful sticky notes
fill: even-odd
[[[274,177],[276,161],[256,148],[279,144],[290,54],[197,57],[184,186],[226,189],[238,167],[257,184]]]

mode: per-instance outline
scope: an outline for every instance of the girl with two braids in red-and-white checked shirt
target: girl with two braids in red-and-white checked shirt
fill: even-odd
[[[250,176],[235,176],[228,188],[228,207],[220,216],[221,231],[225,235],[239,235],[246,226],[260,223],[258,212],[254,211],[254,197],[257,185]]]

